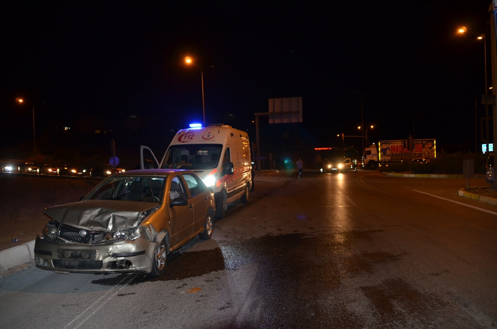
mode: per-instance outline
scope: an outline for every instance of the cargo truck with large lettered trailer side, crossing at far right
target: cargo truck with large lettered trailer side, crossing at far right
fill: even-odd
[[[436,158],[436,140],[414,139],[412,151],[409,150],[408,140],[379,141],[364,149],[362,167],[375,169],[381,165],[413,160],[433,161]]]

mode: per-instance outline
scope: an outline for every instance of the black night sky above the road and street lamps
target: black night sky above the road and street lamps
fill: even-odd
[[[490,39],[488,0],[10,2],[0,10],[2,152],[32,142],[32,105],[40,135],[118,131],[136,115],[136,143],[154,144],[161,128],[201,122],[200,69],[186,67],[186,55],[206,68],[206,121],[253,140],[268,98],[301,96],[304,122],[292,129],[313,146],[340,146],[337,133],[360,135],[362,98],[372,141],[414,134],[474,151],[475,95],[485,89],[475,37]],[[460,25],[466,36],[456,35]],[[491,85],[490,40],[487,50]],[[272,129],[264,118],[261,126]],[[480,123],[477,134],[481,142]]]

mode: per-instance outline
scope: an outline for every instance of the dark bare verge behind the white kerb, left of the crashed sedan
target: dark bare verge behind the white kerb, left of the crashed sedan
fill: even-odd
[[[0,250],[34,240],[47,222],[44,208],[78,201],[98,181],[0,174]]]

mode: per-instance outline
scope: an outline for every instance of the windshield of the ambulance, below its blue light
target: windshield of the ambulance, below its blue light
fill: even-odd
[[[214,169],[218,166],[222,144],[173,145],[167,150],[163,168]]]

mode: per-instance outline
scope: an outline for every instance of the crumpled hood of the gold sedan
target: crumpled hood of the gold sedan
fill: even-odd
[[[60,223],[95,231],[119,231],[140,224],[142,212],[157,204],[115,200],[87,200],[45,208]]]

